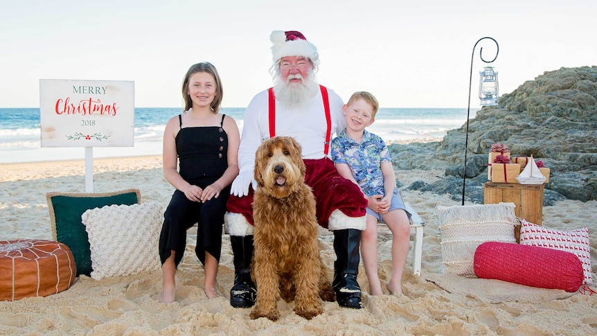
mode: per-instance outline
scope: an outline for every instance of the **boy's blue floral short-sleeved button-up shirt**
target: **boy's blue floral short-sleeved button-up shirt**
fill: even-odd
[[[343,131],[332,140],[332,160],[346,163],[353,177],[368,197],[384,195],[382,162],[391,162],[390,152],[380,136],[364,130],[361,143],[350,139]]]

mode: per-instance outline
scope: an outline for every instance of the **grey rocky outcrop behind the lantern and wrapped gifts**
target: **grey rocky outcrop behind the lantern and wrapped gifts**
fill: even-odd
[[[483,203],[488,152],[493,143],[508,145],[513,156],[531,156],[551,168],[545,204],[553,200],[597,199],[597,67],[546,71],[483,107],[469,121],[465,198]],[[466,124],[443,141],[390,145],[397,169],[445,168],[436,185],[417,182],[407,188],[462,196]]]

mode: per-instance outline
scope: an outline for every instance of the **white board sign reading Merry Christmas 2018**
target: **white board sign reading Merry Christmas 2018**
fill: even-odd
[[[134,82],[39,80],[42,147],[132,147]]]

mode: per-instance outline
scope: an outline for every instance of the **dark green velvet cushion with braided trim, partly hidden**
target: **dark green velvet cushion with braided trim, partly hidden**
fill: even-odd
[[[89,276],[91,271],[91,249],[89,237],[82,223],[81,215],[94,208],[112,204],[141,204],[141,191],[127,189],[112,193],[60,193],[46,194],[50,221],[52,224],[52,237],[57,242],[62,242],[73,252],[77,276]]]

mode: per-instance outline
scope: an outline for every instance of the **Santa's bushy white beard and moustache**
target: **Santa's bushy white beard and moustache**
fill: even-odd
[[[276,100],[279,100],[285,107],[301,107],[317,94],[318,85],[313,77],[310,74],[308,78],[303,78],[300,73],[297,73],[288,75],[286,82],[283,82],[280,75],[276,75],[274,78]],[[303,82],[291,83],[290,80],[294,78],[301,78]]]

